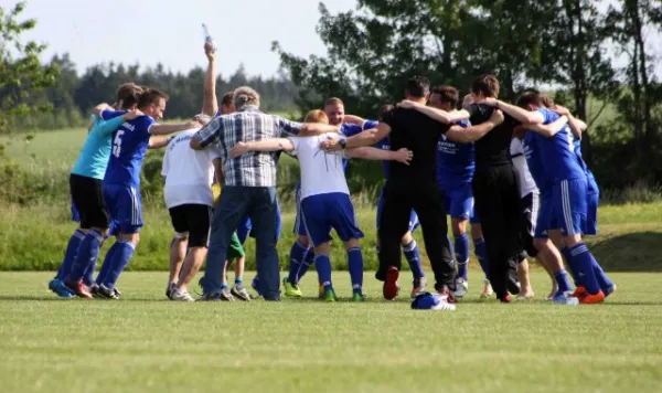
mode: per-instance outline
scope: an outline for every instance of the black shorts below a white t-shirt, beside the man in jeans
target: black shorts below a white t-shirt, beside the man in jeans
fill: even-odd
[[[210,238],[212,206],[180,204],[170,208],[170,219],[178,235],[189,234],[189,247],[206,247]]]

